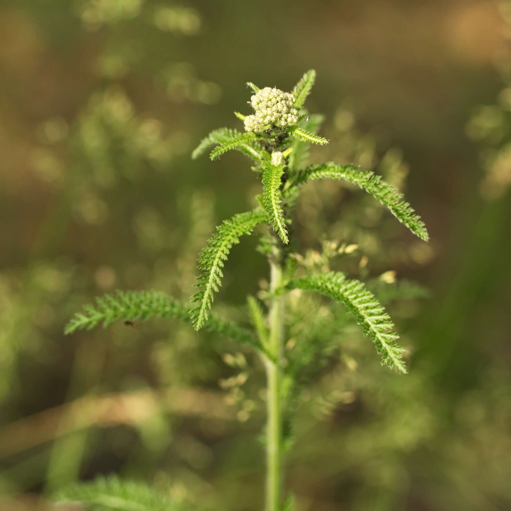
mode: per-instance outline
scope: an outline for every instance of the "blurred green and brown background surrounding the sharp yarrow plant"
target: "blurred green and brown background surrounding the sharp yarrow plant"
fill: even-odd
[[[214,226],[259,190],[242,156],[191,150],[238,126],[246,81],[289,90],[313,67],[331,140],[313,159],[389,176],[431,242],[341,185],[305,195],[311,264],[337,241],[352,273],[416,285],[389,305],[410,374],[339,336],[297,410],[287,486],[304,511],[510,509],[510,30],[485,0],[2,0],[2,495],[119,473],[204,509],[262,507],[257,359],[173,322],[62,331],[116,288],[187,299]],[[254,246],[231,254],[227,316],[266,276]]]

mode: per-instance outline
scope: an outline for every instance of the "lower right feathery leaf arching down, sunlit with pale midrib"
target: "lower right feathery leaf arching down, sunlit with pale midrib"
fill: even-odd
[[[403,349],[395,343],[399,335],[394,332],[394,324],[376,296],[362,282],[346,280],[343,273],[328,272],[299,278],[292,281],[290,287],[321,293],[344,304],[362,327],[364,335],[375,343],[382,364],[406,373]]]

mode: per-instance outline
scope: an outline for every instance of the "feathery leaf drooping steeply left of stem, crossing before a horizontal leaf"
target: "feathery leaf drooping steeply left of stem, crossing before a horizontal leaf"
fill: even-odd
[[[230,248],[239,243],[241,236],[250,234],[256,225],[267,220],[262,208],[238,213],[220,224],[216,233],[202,249],[198,265],[202,273],[197,277],[195,284],[200,291],[192,296],[192,301],[198,304],[191,311],[195,330],[199,330],[208,317],[208,310],[213,303],[213,293],[218,292],[221,286],[222,268]]]

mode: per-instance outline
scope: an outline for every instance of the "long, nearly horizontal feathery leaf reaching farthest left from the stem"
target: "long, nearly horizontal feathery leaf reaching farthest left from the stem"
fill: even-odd
[[[103,328],[114,321],[147,321],[153,318],[175,318],[191,323],[190,305],[160,291],[117,291],[96,298],[95,305],[86,305],[67,323],[64,333],[91,330],[101,324]],[[204,320],[204,329],[239,342],[250,344],[258,350],[262,345],[250,331],[226,321],[216,314]]]

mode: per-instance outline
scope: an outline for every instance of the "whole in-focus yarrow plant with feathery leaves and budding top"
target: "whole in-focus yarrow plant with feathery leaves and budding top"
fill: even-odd
[[[96,305],[86,306],[68,323],[66,333],[91,329],[112,321],[144,321],[153,317],[178,318],[189,322],[195,330],[206,329],[250,345],[257,351],[267,374],[266,406],[266,511],[292,509],[292,499],[284,498],[282,467],[285,450],[289,448],[289,430],[293,401],[316,363],[314,353],[307,346],[288,350],[287,302],[293,290],[298,293],[319,293],[344,306],[346,312],[360,325],[365,336],[375,344],[382,364],[398,373],[406,373],[403,349],[394,324],[378,298],[363,282],[349,278],[338,271],[304,271],[293,241],[292,217],[297,198],[304,185],[321,179],[344,180],[372,195],[412,233],[427,241],[428,234],[422,220],[415,215],[403,196],[380,176],[352,164],[326,162],[304,166],[309,144],[324,145],[328,141],[316,134],[320,116],[310,115],[304,103],[315,81],[313,70],[305,73],[293,88],[284,92],[277,88],[259,89],[248,85],[254,94],[249,104],[254,113],[235,112],[244,123],[244,132],[220,128],[201,141],[193,152],[197,158],[215,146],[212,160],[231,149],[250,158],[252,169],[262,182],[259,204],[253,210],[238,213],[221,223],[199,255],[198,291],[192,296],[192,305],[183,304],[165,293],[118,292],[97,299]],[[259,251],[269,262],[269,289],[258,297],[249,296],[247,311],[251,327],[246,328],[222,319],[211,312],[215,293],[219,291],[224,263],[234,244],[243,235],[251,234],[258,226],[261,242]],[[312,271],[312,272],[311,272]],[[294,293],[296,295],[296,292]],[[304,319],[304,321],[308,321]],[[296,324],[293,324],[296,328]],[[311,350],[321,347],[313,342]],[[309,350],[309,351],[311,351]],[[296,355],[295,355],[296,353]]]

